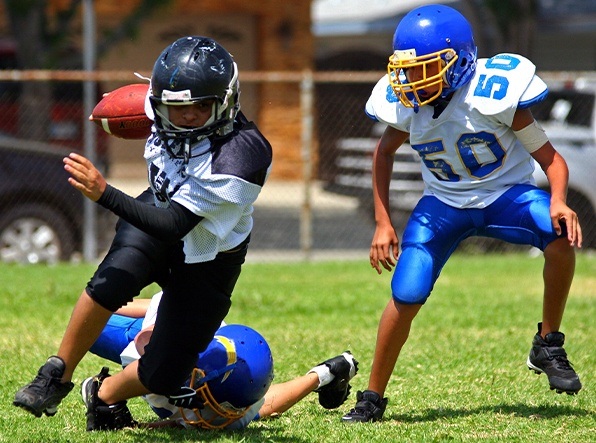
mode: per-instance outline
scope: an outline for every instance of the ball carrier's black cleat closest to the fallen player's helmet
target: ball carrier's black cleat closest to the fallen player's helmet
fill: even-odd
[[[95,377],[89,377],[81,383],[81,396],[87,407],[87,431],[134,428],[138,424],[132,418],[128,406],[126,406],[126,400],[108,405],[99,398],[99,388],[109,376],[108,368],[103,367]]]

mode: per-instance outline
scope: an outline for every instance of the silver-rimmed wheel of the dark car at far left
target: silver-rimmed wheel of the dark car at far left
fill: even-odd
[[[26,204],[0,216],[0,260],[57,263],[74,251],[72,228],[62,213],[45,204]]]

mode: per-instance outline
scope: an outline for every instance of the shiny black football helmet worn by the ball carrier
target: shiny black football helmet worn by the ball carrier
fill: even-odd
[[[157,135],[191,143],[232,130],[239,110],[238,67],[230,53],[208,37],[176,40],[157,58],[151,74],[149,101]],[[198,128],[181,128],[168,118],[168,106],[214,99],[211,118]]]

